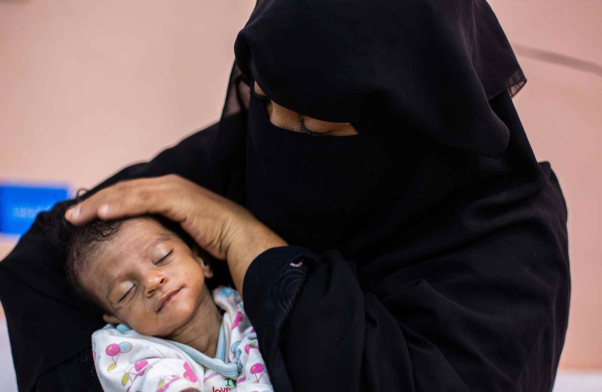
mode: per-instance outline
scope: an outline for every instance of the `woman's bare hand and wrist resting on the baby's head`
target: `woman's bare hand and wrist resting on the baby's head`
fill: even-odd
[[[116,183],[67,210],[65,218],[82,225],[96,217],[150,213],[179,222],[200,247],[227,260],[241,295],[253,259],[269,248],[288,245],[243,206],[175,174]]]

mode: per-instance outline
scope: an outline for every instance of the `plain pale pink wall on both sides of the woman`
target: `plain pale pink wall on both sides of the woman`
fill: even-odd
[[[569,211],[573,295],[561,367],[602,369],[602,1],[493,0],[527,75],[515,105]],[[91,187],[219,118],[252,0],[0,1],[0,180]],[[15,237],[0,237],[0,257]]]

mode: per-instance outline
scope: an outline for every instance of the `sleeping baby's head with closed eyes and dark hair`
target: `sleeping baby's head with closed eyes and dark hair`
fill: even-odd
[[[207,257],[185,234],[154,216],[94,221],[70,229],[67,279],[104,320],[170,337],[216,311]],[[198,321],[198,320],[197,320]]]

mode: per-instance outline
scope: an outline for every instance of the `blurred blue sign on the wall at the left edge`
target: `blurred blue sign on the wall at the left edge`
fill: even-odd
[[[69,198],[64,185],[35,186],[0,183],[0,233],[23,234],[38,213]]]

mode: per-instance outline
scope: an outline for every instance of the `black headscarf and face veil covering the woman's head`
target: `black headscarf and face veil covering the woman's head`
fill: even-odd
[[[510,133],[488,99],[526,79],[484,1],[260,1],[234,47],[269,99],[359,132],[279,128],[251,94],[246,206],[291,243],[374,250],[507,169],[489,159]]]

